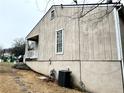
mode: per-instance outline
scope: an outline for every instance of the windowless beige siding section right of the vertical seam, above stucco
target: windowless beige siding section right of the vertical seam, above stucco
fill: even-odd
[[[80,55],[83,60],[117,60],[113,7],[99,7],[81,18]]]

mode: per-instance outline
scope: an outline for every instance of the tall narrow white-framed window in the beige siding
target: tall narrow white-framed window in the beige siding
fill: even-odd
[[[63,30],[56,31],[56,53],[63,54]]]

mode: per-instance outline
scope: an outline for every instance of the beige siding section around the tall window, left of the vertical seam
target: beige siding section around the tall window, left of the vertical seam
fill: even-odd
[[[78,8],[52,7],[51,11],[52,10],[55,10],[55,18],[51,20],[49,12],[45,15],[40,28],[39,60],[77,60],[79,58],[78,45],[76,45],[78,38],[75,38],[77,37],[75,33],[77,30],[77,28],[75,28],[77,20],[72,20],[69,17],[71,17],[74,12],[77,12]],[[55,52],[55,34],[56,31],[60,29],[62,29],[64,33],[64,53],[58,55]]]

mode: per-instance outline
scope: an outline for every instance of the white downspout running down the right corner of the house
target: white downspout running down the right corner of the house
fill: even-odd
[[[121,32],[120,32],[121,30],[120,30],[119,14],[116,8],[114,8],[113,14],[115,20],[117,53],[118,53],[118,60],[120,61],[120,65],[121,65],[122,84],[123,84],[123,92],[124,92],[124,63],[123,63]]]

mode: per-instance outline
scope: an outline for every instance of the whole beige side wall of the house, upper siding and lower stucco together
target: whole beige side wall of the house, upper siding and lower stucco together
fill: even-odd
[[[89,8],[85,8],[84,13]],[[50,11],[53,9],[56,17],[51,20]],[[123,93],[113,12],[106,15],[106,7],[98,7],[80,18],[78,25],[77,16],[81,9],[53,6],[38,26],[38,61],[26,63],[45,75],[55,69],[56,78],[59,70],[69,68],[73,83],[80,86],[81,77],[86,89],[93,93]],[[110,10],[112,7],[109,7]],[[56,54],[55,32],[60,29],[64,33],[64,52]]]

